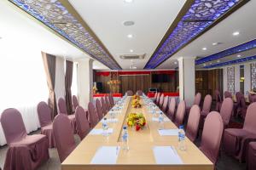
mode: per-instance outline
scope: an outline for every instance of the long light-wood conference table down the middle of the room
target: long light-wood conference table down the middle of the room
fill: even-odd
[[[102,146],[121,146],[121,133],[122,128],[126,124],[126,116],[131,112],[143,113],[146,117],[147,124],[143,130],[136,131],[131,127],[128,127],[129,133],[129,148],[130,150],[119,149],[117,152],[116,162],[113,164],[93,163],[92,160],[96,155],[97,150]],[[110,113],[106,115],[110,117]],[[195,144],[189,139],[185,139],[186,150],[179,150],[177,148],[177,135],[172,136],[160,136],[158,132],[159,122],[153,121],[154,115],[149,111],[148,107],[143,104],[140,109],[131,107],[131,97],[125,99],[125,105],[115,118],[118,122],[108,123],[109,128],[113,128],[113,133],[108,137],[103,135],[88,134],[76,147],[75,150],[67,157],[65,161],[61,163],[62,170],[92,170],[92,169],[104,169],[104,170],[212,170],[213,164],[207,156],[205,156],[201,150],[199,150]],[[166,117],[167,119],[167,117]],[[166,129],[177,129],[175,124],[170,120],[164,122]],[[102,122],[99,122],[94,129],[102,128]],[[181,163],[158,163],[155,159],[153,148],[155,146],[172,146],[177,156],[181,159]],[[109,153],[111,154],[111,153]],[[111,157],[108,153],[103,154],[102,161]],[[161,154],[160,154],[161,156]],[[164,157],[163,159],[170,159],[171,157]],[[99,159],[99,158],[98,158]],[[160,158],[161,159],[161,158]]]

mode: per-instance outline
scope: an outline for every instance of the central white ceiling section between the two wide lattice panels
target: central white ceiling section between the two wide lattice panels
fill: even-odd
[[[69,0],[73,8],[96,33],[119,65],[127,70],[130,60],[119,59],[119,54],[146,54],[145,59],[134,60],[137,69],[143,69],[154,53],[185,0]],[[135,22],[124,26],[125,20]],[[126,37],[132,34],[134,37]],[[133,49],[133,53],[130,52]]]

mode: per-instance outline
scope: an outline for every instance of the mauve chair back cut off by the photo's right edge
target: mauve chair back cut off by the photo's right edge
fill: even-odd
[[[251,133],[255,133],[256,132],[256,103],[252,103],[251,105],[248,106],[247,108],[247,114],[245,116],[245,121],[244,121],[244,125],[243,128]]]

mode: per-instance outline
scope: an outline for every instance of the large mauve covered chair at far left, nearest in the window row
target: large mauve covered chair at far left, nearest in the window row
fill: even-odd
[[[44,134],[27,135],[19,111],[15,109],[3,111],[1,124],[9,144],[3,169],[33,170],[49,159],[47,137]]]

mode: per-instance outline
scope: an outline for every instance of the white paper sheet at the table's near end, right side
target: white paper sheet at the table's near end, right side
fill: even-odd
[[[177,151],[172,146],[154,146],[153,151],[157,164],[183,164]]]

